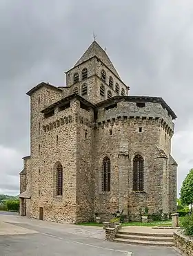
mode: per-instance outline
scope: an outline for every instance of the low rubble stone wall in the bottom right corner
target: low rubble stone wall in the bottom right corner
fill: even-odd
[[[193,237],[190,239],[190,237],[182,235],[180,232],[174,232],[174,246],[187,256],[193,255]]]

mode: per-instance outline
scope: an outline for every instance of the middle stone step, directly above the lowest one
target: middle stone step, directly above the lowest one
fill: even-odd
[[[142,235],[125,235],[125,234],[116,234],[116,238],[123,238],[129,240],[143,240],[143,241],[170,241],[173,242],[173,237],[153,237],[153,236],[143,236]]]

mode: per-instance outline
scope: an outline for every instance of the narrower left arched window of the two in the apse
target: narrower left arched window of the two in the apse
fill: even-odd
[[[103,192],[110,191],[110,158],[103,158],[102,189]]]

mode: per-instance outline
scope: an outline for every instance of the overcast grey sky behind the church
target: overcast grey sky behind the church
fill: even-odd
[[[0,1],[0,194],[19,194],[30,154],[30,98],[41,81],[65,84],[92,33],[130,86],[161,96],[179,117],[172,154],[180,188],[193,167],[192,0]]]

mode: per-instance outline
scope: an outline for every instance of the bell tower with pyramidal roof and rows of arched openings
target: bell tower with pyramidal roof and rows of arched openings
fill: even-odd
[[[123,83],[107,53],[95,39],[65,74],[70,94],[78,93],[92,104],[115,95],[128,95],[129,87]]]

